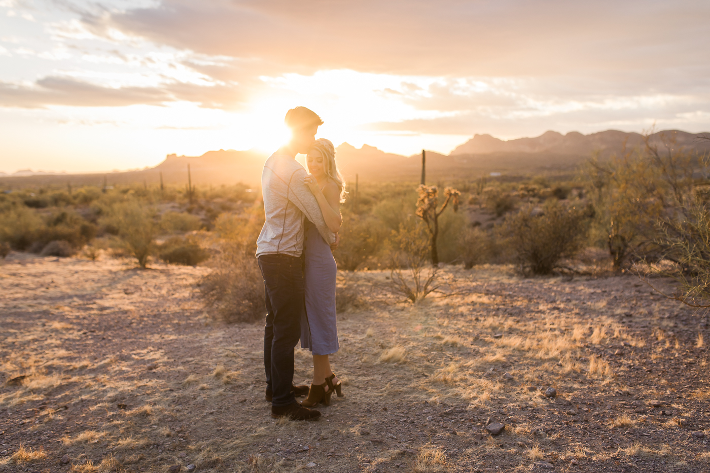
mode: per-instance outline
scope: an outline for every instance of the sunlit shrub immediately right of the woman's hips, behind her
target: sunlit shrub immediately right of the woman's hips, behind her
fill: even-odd
[[[340,229],[340,243],[333,253],[338,268],[355,271],[364,266],[380,249],[384,239],[378,219],[356,214],[344,214]]]

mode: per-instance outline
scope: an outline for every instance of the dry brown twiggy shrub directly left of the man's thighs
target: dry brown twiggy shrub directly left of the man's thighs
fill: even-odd
[[[225,322],[254,322],[266,313],[264,285],[256,257],[234,242],[222,244],[214,269],[200,281],[200,295]]]

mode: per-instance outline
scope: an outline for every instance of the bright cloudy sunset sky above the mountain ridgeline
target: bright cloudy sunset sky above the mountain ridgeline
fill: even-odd
[[[474,134],[710,131],[702,0],[0,0],[0,171]]]

